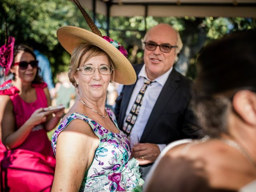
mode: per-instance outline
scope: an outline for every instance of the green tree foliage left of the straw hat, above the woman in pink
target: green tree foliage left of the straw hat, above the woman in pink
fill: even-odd
[[[27,44],[48,56],[54,75],[67,70],[70,55],[60,46],[56,30],[74,25],[88,29],[82,14],[68,0],[0,0],[0,42],[4,43],[7,20],[8,34],[16,44]]]

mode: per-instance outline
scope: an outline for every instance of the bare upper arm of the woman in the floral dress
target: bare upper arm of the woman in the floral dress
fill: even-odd
[[[52,192],[79,190],[98,144],[99,138],[86,122],[70,122],[58,136]]]

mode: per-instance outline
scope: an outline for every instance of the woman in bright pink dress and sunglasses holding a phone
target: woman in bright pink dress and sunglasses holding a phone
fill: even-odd
[[[58,124],[64,108],[44,110],[50,94],[38,76],[32,49],[16,46],[9,66],[14,80],[0,86],[1,190],[50,191],[56,161],[46,133]]]

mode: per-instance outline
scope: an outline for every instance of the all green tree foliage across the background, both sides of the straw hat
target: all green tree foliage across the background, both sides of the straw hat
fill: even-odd
[[[52,72],[68,70],[70,55],[62,48],[56,37],[60,26],[73,25],[89,29],[78,8],[69,0],[0,0],[0,43],[4,43],[4,20],[7,19],[9,35],[16,44],[23,43],[48,56]],[[92,13],[88,11],[92,16]],[[96,16],[96,25],[106,35],[106,17]],[[148,16],[113,17],[110,19],[110,37],[123,44],[132,63],[141,63],[143,50],[141,39],[146,31],[158,23],[167,23],[178,30],[184,44],[176,69],[190,78],[195,77],[196,56],[211,40],[236,30],[256,28],[255,18],[195,18]]]

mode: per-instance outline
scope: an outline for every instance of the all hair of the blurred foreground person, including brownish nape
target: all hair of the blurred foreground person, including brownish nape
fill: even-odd
[[[226,111],[238,90],[256,90],[256,31],[236,32],[206,46],[197,63],[194,106],[202,128],[226,132]]]

